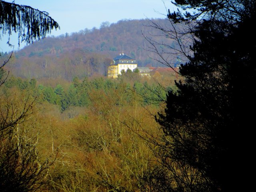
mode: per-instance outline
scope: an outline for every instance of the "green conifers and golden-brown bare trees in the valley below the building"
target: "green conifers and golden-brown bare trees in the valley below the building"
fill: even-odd
[[[12,76],[1,87],[0,108],[8,100],[22,113],[24,101],[33,103],[16,134],[31,137],[42,161],[54,161],[46,191],[143,190],[141,177],[155,159],[138,133],[158,134],[154,114],[162,110],[175,78],[150,80],[126,72],[116,80],[74,78],[70,83]]]

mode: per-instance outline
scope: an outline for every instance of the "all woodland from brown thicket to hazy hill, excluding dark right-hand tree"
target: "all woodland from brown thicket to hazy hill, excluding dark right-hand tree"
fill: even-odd
[[[146,51],[142,32],[157,34],[148,22],[103,22],[0,54],[2,190],[145,190],[142,178],[156,159],[141,136],[160,131],[154,115],[180,77],[105,75],[122,51],[138,66],[160,66]]]

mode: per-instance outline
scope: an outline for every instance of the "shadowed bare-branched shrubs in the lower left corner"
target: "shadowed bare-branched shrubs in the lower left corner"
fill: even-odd
[[[39,148],[36,100],[17,88],[0,89],[0,188],[39,191],[49,184],[49,168],[56,150]]]

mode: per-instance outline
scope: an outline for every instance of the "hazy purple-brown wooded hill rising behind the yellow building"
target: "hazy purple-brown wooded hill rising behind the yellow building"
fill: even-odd
[[[153,21],[162,26],[169,22],[165,19]],[[65,78],[71,81],[74,76],[83,78],[95,73],[106,75],[112,58],[121,52],[135,58],[140,67],[162,66],[151,59],[156,55],[148,51],[148,42],[144,36],[151,36],[158,42],[167,42],[170,45],[173,42],[150,27],[150,22],[103,22],[99,29],[86,28],[72,34],[47,37],[14,52],[6,68],[22,78]],[[8,55],[2,54],[1,60],[6,60],[7,57]],[[175,61],[173,58],[173,63]]]

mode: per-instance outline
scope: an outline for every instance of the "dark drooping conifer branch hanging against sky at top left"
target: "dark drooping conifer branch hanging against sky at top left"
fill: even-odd
[[[47,12],[0,0],[0,38],[4,34],[8,34],[7,44],[10,45],[12,32],[18,33],[20,46],[20,42],[30,44],[36,39],[45,38],[46,34],[50,33],[53,28],[60,27]]]

